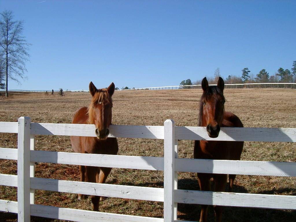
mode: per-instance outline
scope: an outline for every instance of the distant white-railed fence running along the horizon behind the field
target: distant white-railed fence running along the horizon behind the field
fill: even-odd
[[[238,84],[225,84],[226,89],[230,88],[254,88],[258,86],[258,88],[266,88],[266,85],[269,88],[280,88],[284,86],[284,88],[296,89],[296,83],[238,83]],[[126,90],[157,90],[157,89],[201,89],[202,85],[185,85],[185,86],[157,86],[157,87],[147,87],[147,88],[137,88],[137,89],[116,89],[115,91],[126,91]],[[211,84],[210,86],[216,86],[216,84]],[[9,92],[48,92],[51,93],[51,90],[21,90],[21,89],[12,89],[8,90]],[[0,91],[0,93],[5,92],[4,90]],[[54,91],[59,92],[59,91]],[[89,92],[89,90],[64,90],[64,92]]]

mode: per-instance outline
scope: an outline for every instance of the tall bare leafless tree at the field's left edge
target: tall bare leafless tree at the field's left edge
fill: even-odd
[[[28,46],[22,36],[23,22],[13,21],[12,11],[5,10],[0,13],[0,55],[4,63],[6,76],[6,94],[8,97],[8,78],[17,81],[18,77],[24,79],[27,71],[25,61],[28,61]]]

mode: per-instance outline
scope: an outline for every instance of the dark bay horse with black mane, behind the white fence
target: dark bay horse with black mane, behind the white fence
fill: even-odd
[[[240,119],[231,112],[224,111],[224,81],[219,77],[217,86],[209,86],[207,78],[202,80],[203,94],[200,99],[199,126],[205,126],[209,137],[216,138],[220,127],[243,127]],[[194,142],[194,158],[213,160],[240,160],[243,141],[204,141]],[[232,191],[236,175],[229,175],[229,190]],[[210,179],[214,179],[214,191],[224,192],[227,174],[198,173],[200,190],[210,191]],[[207,221],[207,205],[202,205],[200,222]],[[221,221],[222,207],[214,206],[216,221]]]

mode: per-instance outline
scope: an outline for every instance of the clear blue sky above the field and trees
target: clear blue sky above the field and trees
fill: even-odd
[[[30,46],[28,80],[9,89],[178,85],[291,69],[296,1],[14,1]]]

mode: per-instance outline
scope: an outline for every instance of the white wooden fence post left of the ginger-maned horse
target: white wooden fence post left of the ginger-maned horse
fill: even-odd
[[[30,117],[18,119],[17,134],[17,221],[30,221]]]

